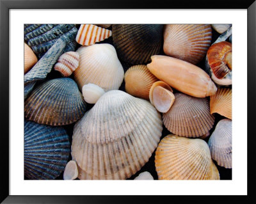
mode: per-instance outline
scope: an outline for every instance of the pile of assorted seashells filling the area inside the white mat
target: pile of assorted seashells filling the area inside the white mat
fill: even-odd
[[[231,38],[231,24],[25,24],[25,179],[231,179]]]

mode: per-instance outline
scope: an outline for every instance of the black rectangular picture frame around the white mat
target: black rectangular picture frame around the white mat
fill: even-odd
[[[248,12],[248,73],[247,73],[247,111],[248,111],[248,195],[247,196],[10,196],[9,189],[9,11],[10,9],[246,9]],[[158,203],[161,200],[172,203],[189,201],[195,203],[256,203],[255,199],[255,132],[253,125],[256,104],[256,2],[255,0],[210,0],[210,1],[103,1],[103,0],[0,0],[0,116],[1,116],[1,189],[0,201],[3,203]],[[243,100],[241,98],[241,100]]]

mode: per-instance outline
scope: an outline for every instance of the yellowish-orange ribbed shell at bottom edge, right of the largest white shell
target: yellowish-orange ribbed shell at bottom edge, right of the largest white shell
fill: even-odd
[[[170,134],[156,149],[159,180],[220,180],[207,143]]]

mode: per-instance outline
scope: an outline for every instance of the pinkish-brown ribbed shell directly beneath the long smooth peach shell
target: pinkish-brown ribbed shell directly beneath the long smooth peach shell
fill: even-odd
[[[195,98],[175,93],[172,108],[163,113],[164,126],[173,134],[182,137],[200,137],[214,124],[207,98]]]

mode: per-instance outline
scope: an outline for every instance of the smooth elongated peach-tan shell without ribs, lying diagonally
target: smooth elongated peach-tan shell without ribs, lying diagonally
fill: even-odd
[[[217,88],[209,75],[199,67],[180,59],[155,55],[147,65],[148,70],[172,88],[193,97],[208,97],[216,93]]]

